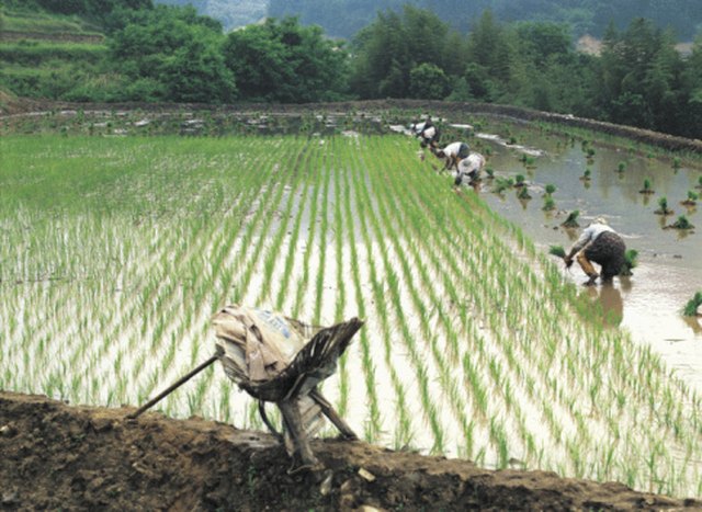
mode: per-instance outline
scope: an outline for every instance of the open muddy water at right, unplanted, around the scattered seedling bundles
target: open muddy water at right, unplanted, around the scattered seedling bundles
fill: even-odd
[[[612,286],[582,288],[582,294],[599,301],[620,328],[627,329],[637,343],[650,344],[687,383],[702,391],[702,319],[680,314],[695,292],[702,291],[702,201],[698,208],[680,205],[689,190],[697,190],[702,167],[687,167],[675,171],[670,160],[634,155],[624,148],[595,145],[596,153],[588,161],[580,143],[571,145],[565,138],[541,134],[521,135],[519,141],[529,153],[540,153],[534,167],[528,169],[520,158],[524,148],[509,147],[492,137],[480,137],[483,147],[489,146],[492,156],[488,167],[496,177],[523,174],[529,183],[531,201],[519,201],[516,191],[501,196],[491,192],[484,181],[480,194],[498,213],[520,226],[526,235],[547,251],[550,244],[566,250],[580,229],[564,229],[568,212],[580,212],[579,224],[587,226],[592,218],[604,216],[620,232],[627,248],[638,251],[638,266],[629,278],[614,280]],[[619,172],[620,162],[625,169]],[[590,169],[590,180],[581,177]],[[648,179],[654,194],[639,193]],[[543,190],[554,184],[556,211],[542,211]],[[660,216],[658,200],[665,196],[672,216]],[[664,229],[684,214],[698,228],[695,232]],[[563,271],[564,280],[586,281],[579,266]]]

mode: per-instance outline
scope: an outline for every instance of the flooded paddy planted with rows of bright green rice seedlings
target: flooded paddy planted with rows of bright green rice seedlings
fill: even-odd
[[[359,316],[322,392],[366,441],[702,497],[699,394],[416,151],[403,135],[3,136],[0,388],[138,405],[212,355],[227,304]],[[158,408],[262,428],[219,366]]]

